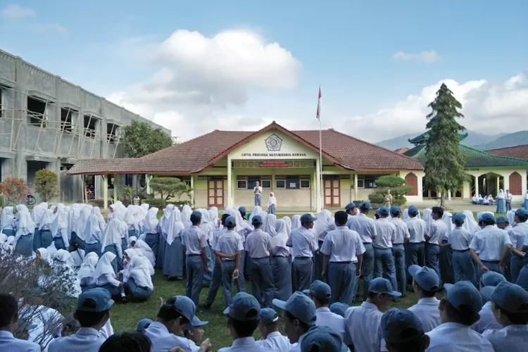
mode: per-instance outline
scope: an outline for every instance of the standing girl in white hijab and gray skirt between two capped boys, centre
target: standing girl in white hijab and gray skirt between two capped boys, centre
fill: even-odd
[[[271,270],[273,273],[273,284],[275,285],[275,298],[287,301],[289,296],[291,296],[291,256],[289,248],[286,246],[288,241],[286,222],[282,219],[275,220],[274,230],[275,234],[272,235],[273,255],[271,258]]]

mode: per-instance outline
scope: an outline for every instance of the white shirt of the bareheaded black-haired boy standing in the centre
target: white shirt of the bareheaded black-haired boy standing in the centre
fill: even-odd
[[[358,255],[365,253],[365,246],[358,232],[339,226],[327,233],[321,253],[330,256],[330,262],[358,262]]]

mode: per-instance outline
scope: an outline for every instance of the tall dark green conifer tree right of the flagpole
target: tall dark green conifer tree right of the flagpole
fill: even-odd
[[[425,186],[441,192],[441,206],[448,190],[462,189],[467,175],[464,171],[465,156],[460,153],[460,132],[465,130],[457,121],[463,118],[462,104],[455,99],[453,92],[442,84],[436,99],[429,103],[432,112],[427,115],[427,140],[425,153]]]

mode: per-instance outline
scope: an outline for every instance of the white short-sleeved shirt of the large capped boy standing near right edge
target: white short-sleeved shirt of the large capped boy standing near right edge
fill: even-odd
[[[512,244],[508,232],[494,225],[487,225],[474,234],[470,249],[479,254],[480,260],[498,261],[501,260],[507,244]]]

